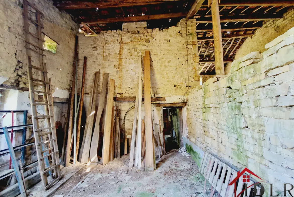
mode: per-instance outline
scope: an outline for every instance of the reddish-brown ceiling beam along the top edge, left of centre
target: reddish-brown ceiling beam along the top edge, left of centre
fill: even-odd
[[[124,6],[141,6],[147,4],[160,4],[165,2],[181,1],[181,0],[98,0],[98,1],[57,1],[57,8],[66,9],[88,9],[88,8],[113,8]]]

